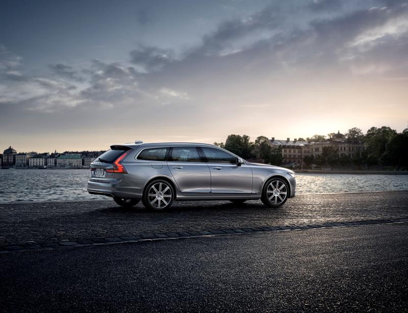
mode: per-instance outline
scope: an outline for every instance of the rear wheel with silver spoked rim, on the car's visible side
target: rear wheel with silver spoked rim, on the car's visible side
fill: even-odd
[[[174,199],[174,188],[164,179],[151,181],[144,190],[143,205],[152,211],[167,210]]]

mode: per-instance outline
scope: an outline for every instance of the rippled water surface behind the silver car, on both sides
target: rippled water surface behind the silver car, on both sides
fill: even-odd
[[[0,170],[0,203],[104,200],[86,191],[89,170]],[[297,194],[408,190],[408,175],[297,174]]]

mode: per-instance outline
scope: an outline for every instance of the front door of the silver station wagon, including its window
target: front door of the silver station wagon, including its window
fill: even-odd
[[[252,170],[245,163],[240,166],[237,158],[224,150],[200,147],[211,173],[211,195],[243,195],[252,192]]]

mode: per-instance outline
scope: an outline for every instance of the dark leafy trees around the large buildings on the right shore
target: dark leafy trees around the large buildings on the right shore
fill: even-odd
[[[344,135],[347,142],[364,142],[364,151],[356,151],[350,158],[347,155],[339,155],[333,146],[327,146],[323,147],[322,153],[316,158],[313,155],[305,156],[303,158],[305,165],[307,167],[327,165],[331,168],[336,166],[361,168],[365,166],[368,169],[372,167],[379,169],[387,166],[397,169],[408,167],[408,128],[397,133],[388,126],[371,127],[366,134],[363,134],[360,128],[353,127]],[[335,133],[327,134],[327,137],[314,135],[306,139],[300,137],[298,141],[321,142],[330,140],[334,136]],[[259,157],[266,164],[282,164],[282,147],[273,147],[265,136],[259,136],[254,142],[251,142],[247,135],[232,134],[226,138],[225,143],[215,142],[214,144],[240,155],[244,159]]]

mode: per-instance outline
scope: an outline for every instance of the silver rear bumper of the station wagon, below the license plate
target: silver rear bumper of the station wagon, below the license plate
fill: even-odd
[[[112,182],[88,181],[88,192],[91,195],[101,195],[108,197],[120,197],[126,199],[141,199],[142,192],[122,186],[121,180],[114,179]]]

